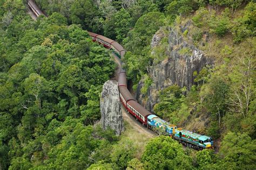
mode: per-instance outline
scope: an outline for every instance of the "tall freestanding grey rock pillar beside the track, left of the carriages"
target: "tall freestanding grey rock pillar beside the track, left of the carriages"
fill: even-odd
[[[119,100],[118,83],[108,80],[104,83],[100,97],[100,112],[102,114],[103,129],[110,127],[120,135],[124,131],[124,121]]]

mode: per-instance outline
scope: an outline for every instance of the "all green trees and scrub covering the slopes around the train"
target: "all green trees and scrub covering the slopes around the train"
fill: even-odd
[[[33,21],[25,2],[0,0],[0,169],[256,168],[255,2],[36,2],[49,18]],[[171,123],[223,139],[220,150],[184,151],[177,141],[160,136],[147,143],[140,158],[134,141],[96,123],[102,84],[114,65],[84,30],[124,45],[127,75],[134,89],[143,81],[146,95],[149,67],[166,58],[168,46],[164,38],[154,55],[152,36],[186,20],[192,26],[180,34],[213,56],[216,65],[193,73],[192,87],[159,91],[154,111]],[[207,126],[200,126],[200,117]]]

